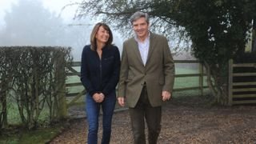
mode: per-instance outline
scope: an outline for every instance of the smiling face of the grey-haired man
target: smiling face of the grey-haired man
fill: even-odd
[[[133,29],[139,39],[144,40],[148,35],[149,24],[146,18],[138,18],[133,22]]]

